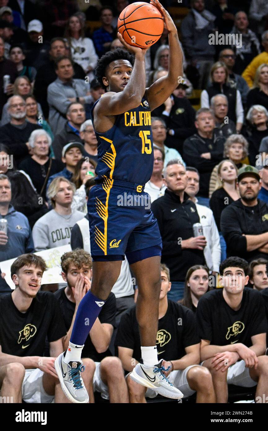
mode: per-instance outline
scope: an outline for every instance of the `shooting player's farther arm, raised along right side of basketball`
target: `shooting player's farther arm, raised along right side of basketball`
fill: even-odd
[[[159,78],[149,88],[146,89],[146,97],[151,111],[162,105],[178,87],[178,78],[183,76],[183,55],[178,38],[177,28],[169,13],[163,8],[158,0],[151,0],[150,3],[156,6],[162,13],[165,27],[168,30],[168,75]]]

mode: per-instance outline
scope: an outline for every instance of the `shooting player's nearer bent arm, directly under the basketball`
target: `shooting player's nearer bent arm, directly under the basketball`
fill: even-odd
[[[94,113],[102,116],[112,116],[123,114],[129,109],[134,109],[139,106],[141,99],[144,96],[146,88],[146,75],[145,75],[145,53],[148,48],[141,49],[127,44],[120,33],[118,38],[124,47],[135,55],[134,66],[128,81],[123,91],[114,93],[108,91],[103,94],[100,101],[97,103]],[[116,73],[123,73],[116,70]]]

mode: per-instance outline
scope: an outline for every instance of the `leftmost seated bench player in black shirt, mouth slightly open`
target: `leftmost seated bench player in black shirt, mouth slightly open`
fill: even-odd
[[[19,385],[22,390],[22,395],[18,396],[17,392],[13,402],[51,403],[55,396],[55,403],[68,403],[54,367],[55,357],[62,351],[62,337],[66,334],[61,311],[53,294],[39,292],[46,269],[40,256],[19,256],[11,265],[16,288],[0,298],[0,366],[3,365],[0,384],[3,369],[6,368],[9,375],[13,370],[15,390]],[[43,356],[46,338],[50,357]],[[3,381],[3,386],[5,384]],[[8,395],[13,392],[14,388],[11,388]]]

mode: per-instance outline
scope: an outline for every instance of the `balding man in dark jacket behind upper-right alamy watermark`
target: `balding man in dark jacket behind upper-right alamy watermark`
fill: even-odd
[[[237,12],[231,34],[239,34],[239,38],[242,39],[242,45],[240,43],[237,46],[232,46],[232,48],[236,49],[237,61],[235,72],[239,75],[246,69],[246,66],[253,58],[261,52],[258,37],[248,26],[249,20],[246,12]]]

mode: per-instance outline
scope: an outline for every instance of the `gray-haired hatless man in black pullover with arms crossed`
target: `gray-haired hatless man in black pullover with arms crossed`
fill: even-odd
[[[209,180],[214,166],[223,159],[225,138],[215,134],[215,118],[211,109],[196,112],[197,133],[184,141],[183,159],[200,174],[198,202],[209,206]],[[200,199],[200,198],[205,199]]]

